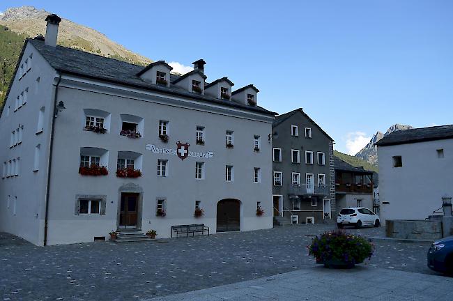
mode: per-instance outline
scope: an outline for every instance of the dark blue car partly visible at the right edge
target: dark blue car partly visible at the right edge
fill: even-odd
[[[453,236],[433,242],[427,258],[431,270],[453,275]]]

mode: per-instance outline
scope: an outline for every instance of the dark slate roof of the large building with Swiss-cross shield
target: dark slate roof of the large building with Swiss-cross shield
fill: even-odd
[[[139,73],[140,70],[143,70],[143,66],[141,65],[134,65],[131,63],[126,63],[124,61],[118,61],[116,59],[110,59],[105,56],[82,52],[77,49],[59,45],[57,45],[56,47],[48,46],[45,45],[43,40],[39,39],[26,39],[24,47],[22,47],[20,59],[22,59],[24,49],[28,43],[31,43],[31,45],[33,45],[33,47],[35,47],[38,52],[40,52],[40,54],[49,63],[49,65],[52,66],[52,68],[67,75],[77,75],[79,77],[96,79],[103,82],[141,88],[146,91],[157,91],[159,93],[167,95],[177,95],[179,97],[189,98],[190,100],[198,102],[211,103],[224,107],[233,107],[236,109],[243,109],[245,111],[254,111],[268,116],[275,116],[277,114],[259,106],[252,107],[237,102],[231,102],[229,100],[220,100],[209,95],[192,93],[190,91],[187,91],[187,89],[185,88],[172,84],[170,85],[170,87],[151,84],[150,82],[146,82],[139,76],[137,76],[137,73]],[[18,65],[19,64],[17,64],[16,66],[15,74],[17,73]],[[13,85],[14,78],[15,77],[13,77],[13,80],[10,82],[5,100],[8,99],[8,94],[10,92],[11,86]],[[170,74],[171,80],[175,80],[177,78],[178,76]],[[3,107],[5,106],[5,104],[6,102],[3,102]],[[1,108],[2,111],[3,107]]]

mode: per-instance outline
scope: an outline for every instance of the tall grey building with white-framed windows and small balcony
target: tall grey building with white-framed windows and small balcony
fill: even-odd
[[[275,222],[322,222],[335,214],[333,139],[295,109],[272,123]]]

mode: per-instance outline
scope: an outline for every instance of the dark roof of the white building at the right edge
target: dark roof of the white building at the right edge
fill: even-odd
[[[391,146],[443,139],[453,139],[453,125],[399,130],[383,137],[383,139],[376,142],[376,145]]]

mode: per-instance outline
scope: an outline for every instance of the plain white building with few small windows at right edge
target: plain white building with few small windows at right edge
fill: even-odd
[[[453,125],[393,132],[376,145],[381,219],[425,219],[453,195]]]

